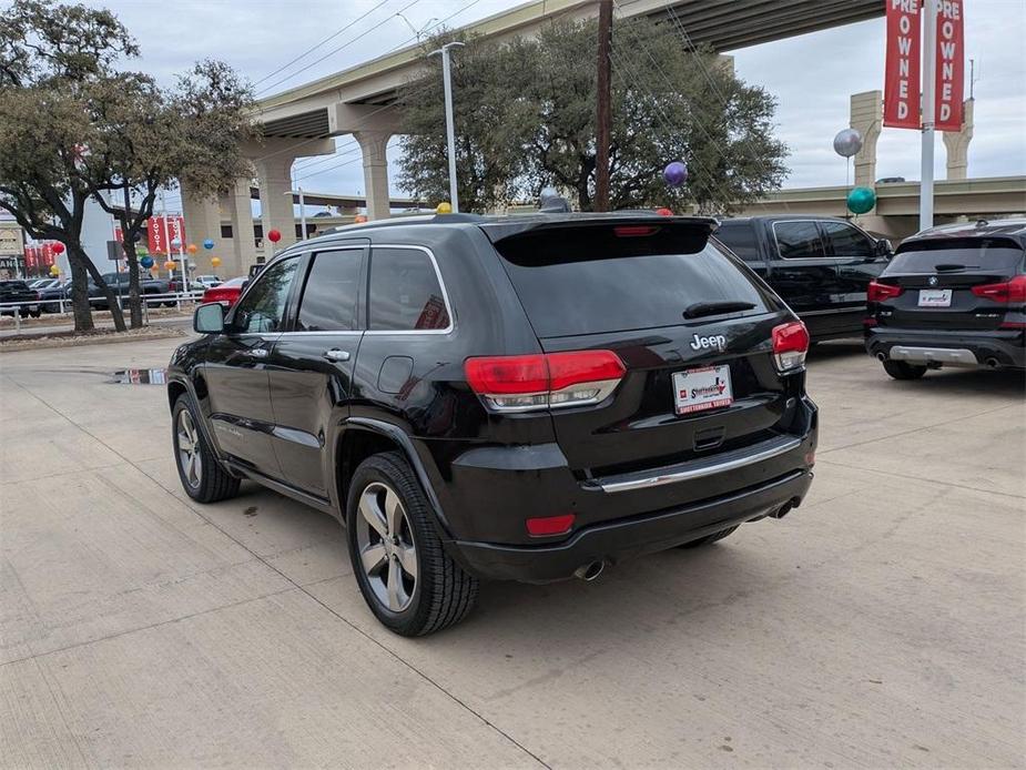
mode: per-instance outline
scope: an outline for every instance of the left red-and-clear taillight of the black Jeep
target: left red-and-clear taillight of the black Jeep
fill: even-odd
[[[531,412],[598,404],[627,367],[612,351],[572,351],[467,358],[467,383],[494,409]]]

